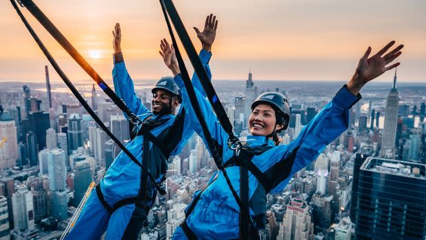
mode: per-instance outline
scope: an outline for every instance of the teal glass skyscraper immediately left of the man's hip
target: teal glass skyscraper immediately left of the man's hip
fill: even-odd
[[[90,171],[90,164],[88,161],[77,161],[74,169],[74,207],[79,206],[92,179],[92,172]]]

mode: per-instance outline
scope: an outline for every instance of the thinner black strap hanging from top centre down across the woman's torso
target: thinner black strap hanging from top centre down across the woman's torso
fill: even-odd
[[[187,90],[188,97],[190,98],[192,108],[194,109],[194,112],[196,114],[197,119],[199,119],[199,123],[201,125],[201,128],[203,129],[205,141],[207,142],[207,146],[210,149],[210,152],[211,152],[212,157],[214,159],[214,163],[216,163],[217,168],[219,168],[219,170],[221,170],[221,172],[223,172],[223,177],[225,177],[225,181],[226,181],[227,185],[229,186],[229,188],[232,192],[232,195],[234,196],[234,198],[236,200],[236,203],[238,203],[239,207],[241,208],[241,199],[239,198],[239,195],[234,190],[234,187],[232,186],[230,178],[227,176],[227,172],[226,172],[225,168],[223,168],[222,156],[221,156],[221,154],[219,154],[219,152],[217,150],[216,143],[214,142],[214,140],[212,138],[212,134],[210,133],[210,130],[207,127],[207,123],[205,123],[203,113],[201,112],[201,108],[200,108],[200,105],[199,105],[199,101],[196,98],[195,90],[194,90],[194,87],[192,86],[190,75],[188,74],[188,72],[185,68],[185,63],[183,62],[181,52],[179,51],[179,48],[178,48],[177,43],[176,43],[176,39],[174,38],[172,26],[170,25],[170,21],[168,19],[168,14],[166,12],[167,11],[166,6],[164,5],[163,0],[160,0],[160,3],[161,3],[161,8],[163,10],[163,14],[164,14],[164,17],[165,17],[165,21],[168,25],[170,37],[172,38],[174,50],[175,50],[175,53],[176,53],[176,59],[179,63],[179,69],[181,70],[181,76],[182,76],[182,79],[183,79],[183,83],[185,84],[185,88]],[[169,3],[171,3],[171,2],[169,1]],[[196,58],[198,58],[198,57],[196,57]]]

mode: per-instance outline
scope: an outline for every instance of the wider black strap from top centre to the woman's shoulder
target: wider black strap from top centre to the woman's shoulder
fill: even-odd
[[[203,68],[203,64],[201,63],[201,60],[199,59],[198,54],[196,53],[196,50],[194,48],[194,45],[192,44],[190,36],[187,34],[185,26],[183,26],[181,17],[179,17],[179,14],[176,8],[174,7],[172,0],[161,0],[161,1],[163,1],[165,4],[167,12],[173,23],[174,29],[176,30],[176,33],[178,34],[179,39],[181,39],[183,48],[185,49],[192,63],[192,66],[194,67],[194,71],[196,75],[200,79],[200,82],[204,88],[205,94],[207,94],[207,99],[209,99],[210,104],[212,104],[212,108],[214,112],[216,113],[216,116],[219,119],[219,122],[221,123],[223,130],[225,130],[225,132],[227,132],[227,134],[230,135],[230,139],[234,141],[238,140],[234,136],[234,132],[232,130],[232,123],[230,122],[230,119],[227,117],[225,108],[223,108],[223,105],[221,101],[219,100],[219,97],[217,96],[216,91],[214,90],[214,87],[212,86],[212,82],[210,81],[209,77],[207,77],[207,73],[205,72],[205,69]]]

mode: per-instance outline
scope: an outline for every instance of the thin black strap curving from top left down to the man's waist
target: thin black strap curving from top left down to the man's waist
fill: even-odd
[[[41,49],[41,51],[43,51],[43,54],[45,54],[45,57],[48,59],[48,61],[50,62],[50,64],[52,64],[52,67],[54,68],[54,70],[59,74],[59,77],[61,77],[61,79],[63,80],[63,82],[66,84],[66,86],[68,86],[68,88],[70,88],[71,92],[74,94],[74,96],[77,98],[77,100],[79,100],[79,102],[81,103],[81,105],[83,106],[83,108],[90,114],[90,116],[94,119],[94,121],[96,121],[99,124],[99,126],[102,128],[102,130],[106,132],[106,134],[108,135],[108,137],[110,137],[112,139],[112,141],[114,141],[114,143],[116,143],[119,146],[119,148],[121,148],[121,150],[123,150],[123,152],[125,152],[125,154],[127,154],[128,157],[134,163],[136,163],[136,165],[138,165],[139,167],[141,167],[141,169],[144,172],[147,172],[148,176],[150,177],[150,180],[154,183],[154,186],[156,187],[156,189],[159,190],[159,192],[161,194],[165,194],[165,190],[163,190],[156,183],[155,178],[152,176],[152,174],[150,174],[150,172],[148,172],[148,170],[145,169],[142,166],[142,164],[139,163],[139,161],[137,161],[136,157],[134,157],[133,154],[127,148],[125,148],[125,146],[123,146],[123,143],[121,143],[121,141],[119,141],[119,139],[117,139],[114,136],[114,134],[112,134],[112,132],[110,132],[110,130],[105,126],[105,124],[103,124],[103,122],[101,121],[101,119],[99,119],[99,117],[97,116],[97,114],[95,114],[94,111],[92,110],[92,108],[90,108],[90,106],[84,100],[84,98],[81,96],[81,94],[79,93],[79,91],[77,90],[77,88],[74,87],[74,85],[71,83],[70,79],[68,79],[68,77],[62,71],[62,69],[59,67],[58,63],[54,60],[54,58],[52,57],[52,55],[50,54],[50,52],[48,51],[48,49],[45,48],[43,42],[39,39],[39,37],[37,36],[37,34],[34,32],[34,30],[32,29],[32,27],[30,26],[30,23],[28,23],[28,21],[26,20],[26,18],[23,16],[21,10],[19,10],[19,7],[17,6],[17,3],[15,3],[14,0],[10,0],[10,3],[12,3],[12,6],[17,11],[17,13],[18,13],[19,17],[21,18],[23,24],[28,29],[28,32],[30,32],[30,34],[32,35],[32,37],[36,41],[36,43],[39,46],[39,48]]]

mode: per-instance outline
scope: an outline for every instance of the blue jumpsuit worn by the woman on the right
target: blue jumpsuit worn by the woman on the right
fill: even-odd
[[[188,100],[187,90],[179,75],[174,78],[175,83],[181,89],[183,94],[183,106],[187,109],[190,124],[195,132],[199,134],[203,141],[205,137],[194,110]],[[223,161],[225,163],[232,159],[234,152],[227,147],[228,135],[220,125],[216,115],[212,111],[212,106],[205,99],[205,92],[196,90],[201,110],[207,126],[210,129],[212,137],[219,143],[222,150]],[[342,88],[336,96],[327,103],[326,106],[316,114],[316,117],[303,128],[301,133],[294,141],[285,146],[276,146],[274,142],[263,136],[248,136],[247,144],[250,147],[271,146],[270,150],[263,154],[255,155],[252,163],[265,174],[274,174],[269,176],[273,179],[274,185],[270,189],[272,193],[283,192],[285,186],[291,177],[299,170],[305,168],[314,161],[318,155],[323,152],[325,147],[344,132],[348,127],[349,108],[356,101],[361,99],[361,95],[354,96],[346,88]],[[207,145],[207,144],[206,144]],[[285,161],[291,161],[290,164]],[[286,165],[287,164],[287,165]],[[278,169],[270,171],[273,166]],[[281,167],[280,166],[285,166]],[[290,170],[291,168],[291,170]],[[240,194],[240,168],[239,166],[230,166],[225,168],[232,186],[237,194]],[[290,171],[283,177],[285,170]],[[200,191],[194,193],[194,197]],[[249,171],[249,194],[250,194],[250,217],[257,229],[265,226],[265,203],[266,194],[263,186]],[[188,209],[187,209],[188,210]],[[216,172],[210,179],[207,188],[201,194],[192,213],[187,217],[187,226],[199,239],[238,239],[239,232],[239,214],[240,208],[234,199],[230,188],[227,186],[223,173]],[[179,227],[174,232],[173,239],[187,239],[183,228]]]

